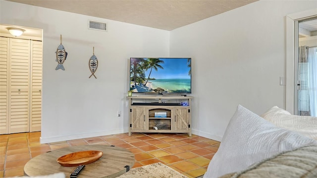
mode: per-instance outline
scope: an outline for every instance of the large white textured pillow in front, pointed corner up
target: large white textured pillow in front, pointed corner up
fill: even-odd
[[[204,178],[218,178],[278,153],[316,144],[317,140],[278,128],[239,105]]]

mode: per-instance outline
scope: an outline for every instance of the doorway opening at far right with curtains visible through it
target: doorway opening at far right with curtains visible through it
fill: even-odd
[[[317,17],[295,21],[297,115],[317,116]]]

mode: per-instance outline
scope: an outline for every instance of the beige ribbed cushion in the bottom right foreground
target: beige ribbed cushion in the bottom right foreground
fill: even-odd
[[[273,156],[221,178],[317,178],[317,145]]]

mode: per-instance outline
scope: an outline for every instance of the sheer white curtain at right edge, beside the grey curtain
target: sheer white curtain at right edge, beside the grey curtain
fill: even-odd
[[[308,49],[308,81],[311,116],[317,117],[317,47]]]

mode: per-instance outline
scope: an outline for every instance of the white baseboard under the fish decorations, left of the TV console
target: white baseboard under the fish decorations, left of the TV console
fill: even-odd
[[[119,130],[111,130],[111,131],[101,131],[101,132],[94,132],[94,133],[82,133],[82,134],[71,134],[71,135],[60,135],[60,136],[53,136],[53,137],[40,137],[40,143],[53,143],[58,141],[66,141],[66,140],[73,140],[73,139],[82,139],[82,138],[89,138],[95,136],[104,136],[110,134],[122,134],[125,133],[126,129],[119,129]]]

